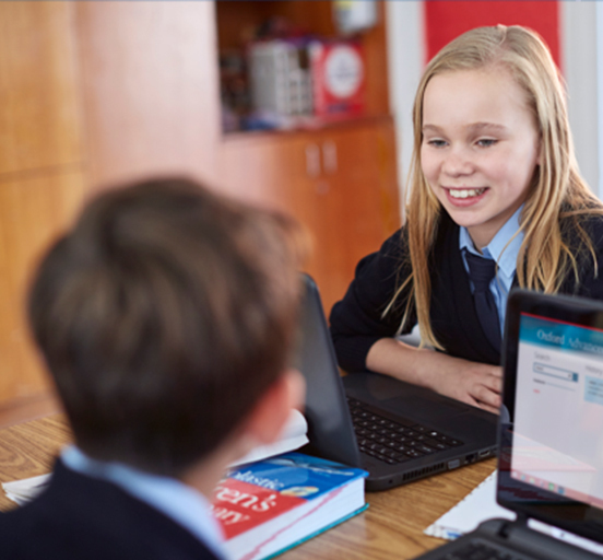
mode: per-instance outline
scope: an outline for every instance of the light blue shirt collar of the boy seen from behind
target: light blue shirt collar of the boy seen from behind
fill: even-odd
[[[211,515],[210,503],[201,492],[175,478],[151,475],[121,463],[93,459],[73,445],[62,451],[61,459],[70,469],[113,482],[155,508],[192,533],[217,558],[226,558],[222,529]]]

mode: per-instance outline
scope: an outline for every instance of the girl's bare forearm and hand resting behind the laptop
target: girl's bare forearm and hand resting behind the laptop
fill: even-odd
[[[498,413],[503,369],[414,348],[393,338],[378,340],[366,365],[374,372],[428,387],[440,395]]]

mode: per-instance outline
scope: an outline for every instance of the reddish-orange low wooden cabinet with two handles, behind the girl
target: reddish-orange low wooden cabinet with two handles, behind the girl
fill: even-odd
[[[314,241],[307,271],[327,313],[357,261],[400,225],[389,117],[312,132],[241,135],[224,141],[221,156],[225,191],[292,213],[306,226]]]

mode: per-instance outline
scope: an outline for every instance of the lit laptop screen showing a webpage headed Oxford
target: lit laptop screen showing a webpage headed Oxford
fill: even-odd
[[[521,314],[511,477],[603,506],[603,331]]]

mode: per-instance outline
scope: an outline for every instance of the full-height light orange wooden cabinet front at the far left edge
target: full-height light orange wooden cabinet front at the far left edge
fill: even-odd
[[[0,2],[0,408],[46,390],[25,293],[84,196],[74,7]]]

